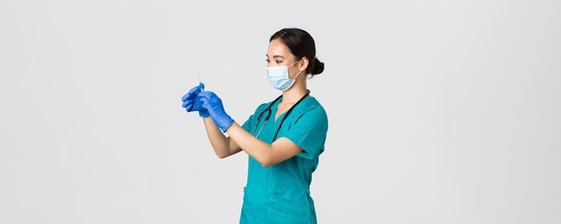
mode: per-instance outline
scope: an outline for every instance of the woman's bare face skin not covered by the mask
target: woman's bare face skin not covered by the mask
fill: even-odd
[[[269,48],[267,49],[267,67],[269,66],[289,66],[289,76],[293,78],[301,69],[301,63],[296,62],[296,57],[290,53],[289,47],[284,45],[280,39],[273,39],[269,43]],[[292,66],[290,66],[292,65]]]

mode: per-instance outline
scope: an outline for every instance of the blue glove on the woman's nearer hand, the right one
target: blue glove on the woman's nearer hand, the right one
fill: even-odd
[[[234,124],[234,119],[226,114],[226,110],[224,110],[224,106],[222,105],[222,100],[211,91],[200,92],[199,97],[201,97],[201,102],[203,102],[203,108],[206,108],[209,114],[211,114],[214,124],[220,127],[220,130],[225,133],[226,129]]]

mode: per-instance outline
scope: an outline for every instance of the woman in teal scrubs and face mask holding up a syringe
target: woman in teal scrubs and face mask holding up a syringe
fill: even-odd
[[[266,62],[267,78],[282,94],[257,107],[243,125],[226,113],[216,93],[199,86],[182,98],[183,107],[203,117],[219,158],[239,151],[248,155],[239,223],[316,223],[309,186],[324,151],[328,121],[309,94],[306,76],[322,73],[324,63],[315,57],[312,36],[296,28],[272,35]]]

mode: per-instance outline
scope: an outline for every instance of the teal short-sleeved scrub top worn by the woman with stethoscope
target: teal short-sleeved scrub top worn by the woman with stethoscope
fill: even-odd
[[[255,133],[252,133],[257,116],[271,103],[257,107],[242,127],[250,134],[259,133],[268,113],[263,114]],[[271,117],[259,134],[258,138],[263,142],[272,143],[277,126],[286,115],[285,112],[275,120],[279,103],[280,100],[277,100],[272,105]],[[248,156],[247,184],[239,223],[317,223],[309,186],[319,155],[324,151],[327,127],[324,108],[314,97],[308,96],[290,112],[277,136],[277,139],[288,138],[302,151],[266,168]]]

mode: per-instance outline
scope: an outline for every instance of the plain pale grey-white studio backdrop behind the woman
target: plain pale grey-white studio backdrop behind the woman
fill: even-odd
[[[243,124],[270,36],[314,38],[320,223],[560,223],[559,1],[0,2],[0,223],[237,223],[181,97]]]

